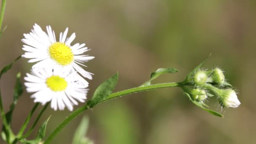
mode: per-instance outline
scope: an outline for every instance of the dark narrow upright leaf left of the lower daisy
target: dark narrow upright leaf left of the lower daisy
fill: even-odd
[[[13,92],[13,103],[10,106],[9,112],[7,112],[5,114],[6,121],[7,121],[8,124],[11,123],[11,117],[12,117],[13,109],[15,108],[19,97],[23,93],[23,87],[22,87],[22,84],[21,84],[21,81],[20,81],[20,77],[21,77],[21,73],[18,72],[18,74],[16,75],[16,83],[15,83],[14,92]]]

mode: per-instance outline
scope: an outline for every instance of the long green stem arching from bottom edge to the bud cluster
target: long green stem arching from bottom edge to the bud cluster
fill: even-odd
[[[168,87],[181,87],[184,85],[190,85],[189,83],[160,83],[160,84],[155,84],[155,85],[147,85],[147,86],[142,86],[142,87],[136,87],[136,88],[130,88],[124,91],[119,91],[116,93],[112,93],[109,96],[107,96],[106,99],[103,101],[107,101],[110,99],[114,99],[118,96],[124,96],[132,93],[138,93],[141,91],[149,91],[153,89],[158,89],[158,88],[168,88]],[[100,101],[99,103],[103,102]],[[99,104],[98,103],[98,104]],[[82,114],[86,109],[90,108],[88,104],[83,105],[82,107],[76,109],[74,112],[72,112],[64,121],[61,122],[61,124],[48,136],[48,138],[45,140],[44,144],[49,144],[53,138],[61,131],[62,128],[64,128],[71,120],[73,120],[75,117],[78,115]]]

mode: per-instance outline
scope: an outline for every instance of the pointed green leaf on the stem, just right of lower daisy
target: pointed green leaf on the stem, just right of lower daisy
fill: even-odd
[[[99,102],[104,101],[104,99],[106,99],[107,96],[109,96],[114,90],[115,85],[117,84],[117,80],[118,72],[106,81],[104,81],[104,83],[101,83],[98,88],[96,88],[92,99],[87,102],[87,105],[92,108]]]

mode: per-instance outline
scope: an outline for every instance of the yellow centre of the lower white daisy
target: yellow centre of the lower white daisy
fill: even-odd
[[[46,85],[52,91],[63,91],[67,88],[67,81],[59,76],[51,76],[47,78]]]

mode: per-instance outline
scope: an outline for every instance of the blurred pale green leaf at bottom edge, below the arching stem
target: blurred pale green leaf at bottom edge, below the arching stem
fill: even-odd
[[[86,141],[82,141],[82,140],[84,140],[85,134],[88,130],[88,126],[89,126],[89,119],[88,117],[83,116],[80,124],[78,125],[75,131],[72,144],[86,144]]]

